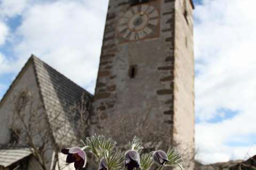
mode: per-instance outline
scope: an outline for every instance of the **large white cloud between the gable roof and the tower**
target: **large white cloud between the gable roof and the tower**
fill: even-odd
[[[30,5],[15,32],[21,37],[14,48],[17,71],[35,54],[94,92],[107,6],[105,0]]]

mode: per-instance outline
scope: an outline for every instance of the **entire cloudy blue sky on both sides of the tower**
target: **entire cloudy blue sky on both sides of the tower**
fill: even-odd
[[[31,54],[93,93],[106,0],[0,0],[0,98]],[[196,146],[203,163],[256,154],[256,1],[195,1]]]

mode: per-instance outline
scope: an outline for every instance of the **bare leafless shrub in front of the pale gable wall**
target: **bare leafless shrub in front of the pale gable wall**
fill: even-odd
[[[18,92],[13,99],[13,115],[10,128],[19,139],[17,146],[27,146],[42,169],[48,169],[49,152],[54,146],[52,130],[46,121],[46,113],[40,100],[28,90]]]

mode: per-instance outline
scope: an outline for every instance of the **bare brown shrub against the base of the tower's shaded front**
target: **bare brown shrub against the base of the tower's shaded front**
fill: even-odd
[[[119,146],[125,146],[135,135],[146,143],[147,148],[167,149],[170,146],[171,131],[159,116],[99,113],[98,120],[98,133],[116,139]]]

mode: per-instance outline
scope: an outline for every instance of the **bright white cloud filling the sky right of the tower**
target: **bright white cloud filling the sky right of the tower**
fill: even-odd
[[[256,134],[255,5],[254,0],[205,0],[196,6],[196,114],[201,121],[196,143],[204,163],[243,159],[256,143],[251,138],[247,146],[230,144]],[[221,116],[221,108],[239,112],[229,120],[206,123]],[[256,148],[250,152],[255,155]]]

